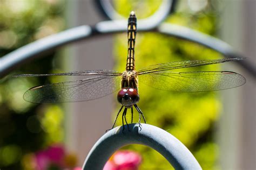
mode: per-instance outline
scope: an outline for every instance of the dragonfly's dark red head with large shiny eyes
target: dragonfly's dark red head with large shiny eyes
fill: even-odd
[[[138,90],[134,88],[123,88],[117,94],[117,100],[126,108],[131,108],[133,104],[139,102]]]

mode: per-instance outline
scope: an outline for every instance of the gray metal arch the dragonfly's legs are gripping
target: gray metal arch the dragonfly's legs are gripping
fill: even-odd
[[[118,126],[105,133],[92,147],[87,155],[83,169],[102,170],[106,161],[119,148],[142,144],[153,148],[163,155],[175,169],[201,169],[192,153],[177,138],[163,129],[149,124],[129,124],[123,132],[123,126]]]

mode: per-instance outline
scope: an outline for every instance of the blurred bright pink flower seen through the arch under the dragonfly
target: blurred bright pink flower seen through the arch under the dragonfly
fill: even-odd
[[[142,157],[132,151],[118,151],[106,162],[103,170],[136,170]]]

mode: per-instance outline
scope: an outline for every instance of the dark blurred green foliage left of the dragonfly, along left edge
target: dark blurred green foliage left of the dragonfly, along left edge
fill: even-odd
[[[64,1],[0,1],[0,56],[64,28]],[[53,56],[28,63],[15,73],[51,73]],[[63,141],[63,111],[53,104],[22,100],[25,90],[48,78],[5,77],[0,84],[0,169],[25,168],[32,152]],[[27,163],[26,163],[27,164]]]

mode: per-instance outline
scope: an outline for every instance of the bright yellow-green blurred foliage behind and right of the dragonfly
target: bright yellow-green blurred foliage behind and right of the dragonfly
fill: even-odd
[[[133,9],[140,3],[142,9]],[[144,3],[144,5],[142,5]],[[128,17],[134,10],[138,18],[151,15],[161,1],[115,1],[116,9]],[[131,5],[130,5],[131,4]],[[166,22],[191,27],[214,36],[217,13],[210,1],[199,11],[192,11],[181,1],[177,12]],[[142,16],[142,17],[141,17]],[[138,21],[139,22],[139,21]],[[127,35],[116,37],[115,70],[123,71],[127,57]],[[220,54],[185,40],[163,36],[159,33],[137,33],[135,46],[135,66],[139,70],[156,63],[181,60],[219,59]],[[193,67],[188,70],[220,70],[219,65]],[[147,123],[165,129],[177,137],[193,153],[203,169],[218,169],[218,146],[214,142],[214,122],[218,119],[221,103],[216,92],[173,93],[161,91],[139,82],[140,102],[138,106],[146,116]],[[116,112],[119,109],[119,105]],[[134,114],[138,115],[137,113]],[[115,117],[116,114],[113,114]],[[138,117],[134,118],[137,121]],[[122,124],[119,119],[118,124]],[[132,145],[125,149],[138,151],[143,155],[141,169],[170,169],[170,164],[159,153],[149,147]]]

